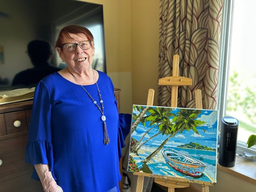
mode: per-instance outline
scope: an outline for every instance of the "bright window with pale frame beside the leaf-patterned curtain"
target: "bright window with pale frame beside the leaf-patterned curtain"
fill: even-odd
[[[224,116],[239,120],[237,154],[246,157],[256,154],[256,147],[246,145],[248,137],[256,134],[256,27],[251,22],[256,18],[255,6],[255,0],[226,0],[222,14],[219,121]]]

